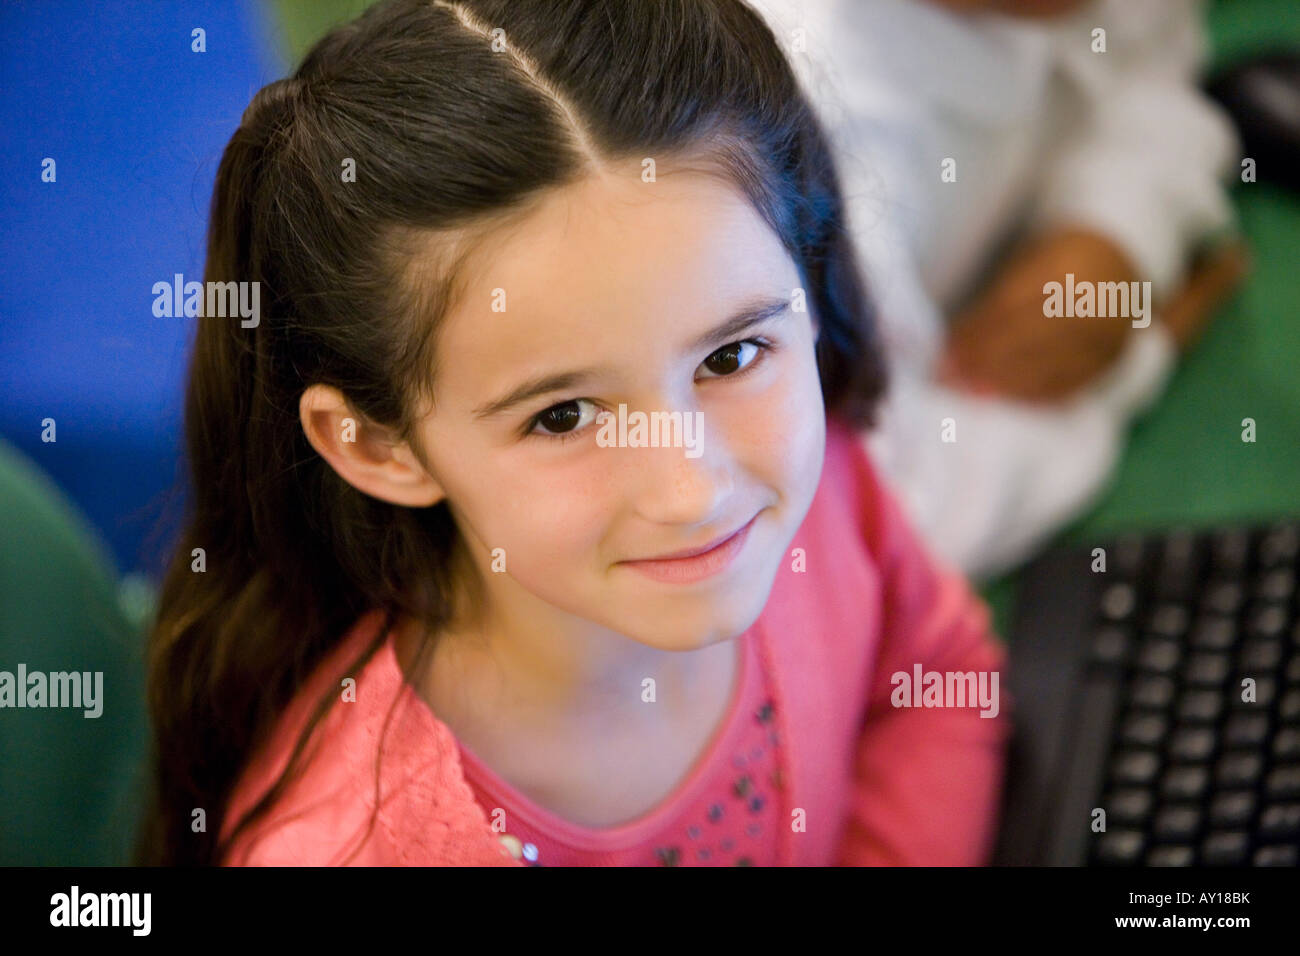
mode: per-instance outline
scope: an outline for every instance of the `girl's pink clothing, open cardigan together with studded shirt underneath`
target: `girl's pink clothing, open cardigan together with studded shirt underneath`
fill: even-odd
[[[984,605],[924,550],[858,437],[833,419],[794,549],[802,561],[783,566],[763,613],[736,639],[741,667],[728,715],[690,773],[642,817],[592,830],[515,791],[402,682],[391,635],[351,674],[381,623],[370,611],[244,769],[222,838],[285,767],[325,688],[356,676],[355,701],[341,689],[299,778],[222,862],[987,862],[1010,732],[1006,680],[998,682],[997,715],[982,717],[974,701],[894,706],[901,692],[890,678],[911,678],[918,665],[922,672],[998,672],[1005,652]],[[494,819],[508,821],[515,839],[503,840]],[[515,852],[523,845],[524,860],[507,843]]]

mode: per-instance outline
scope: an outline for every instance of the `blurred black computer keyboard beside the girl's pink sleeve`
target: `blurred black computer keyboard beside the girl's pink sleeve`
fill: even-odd
[[[1300,522],[1096,548],[1022,579],[994,861],[1295,866]]]

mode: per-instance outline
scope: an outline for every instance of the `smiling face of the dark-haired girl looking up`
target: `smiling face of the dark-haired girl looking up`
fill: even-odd
[[[556,190],[476,247],[417,438],[493,606],[686,650],[762,611],[820,479],[826,412],[815,317],[776,235],[720,179],[640,172]],[[766,317],[736,320],[753,308]],[[620,405],[629,434],[636,412],[702,429],[619,446]],[[720,567],[633,563],[746,527]]]

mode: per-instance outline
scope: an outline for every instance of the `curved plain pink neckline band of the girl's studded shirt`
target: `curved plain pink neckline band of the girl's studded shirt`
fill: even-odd
[[[710,783],[708,769],[716,760],[718,752],[728,745],[738,732],[741,726],[740,708],[751,678],[754,652],[750,641],[755,639],[757,630],[755,622],[754,627],[733,639],[740,646],[736,652],[737,667],[732,678],[731,697],[724,717],[714,730],[708,744],[672,791],[640,817],[618,826],[599,829],[573,823],[529,800],[478,760],[465,744],[456,740],[462,761],[465,765],[465,775],[472,777],[473,783],[488,791],[494,799],[508,804],[511,812],[521,817],[528,826],[572,844],[577,849],[615,851],[642,843],[653,834],[662,831],[682,808],[689,806],[703,795]]]

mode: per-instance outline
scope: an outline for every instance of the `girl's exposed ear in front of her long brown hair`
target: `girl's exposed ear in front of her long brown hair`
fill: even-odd
[[[309,386],[298,414],[307,441],[359,492],[406,507],[430,507],[446,497],[407,444],[354,411],[338,389]]]

